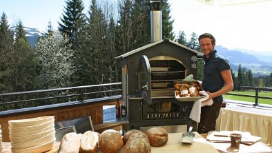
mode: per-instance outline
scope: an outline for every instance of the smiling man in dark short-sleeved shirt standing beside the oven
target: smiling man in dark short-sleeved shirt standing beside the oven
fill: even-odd
[[[205,61],[202,88],[209,95],[206,101],[213,99],[213,105],[201,108],[200,123],[197,128],[197,132],[201,134],[215,130],[215,122],[223,102],[222,94],[233,90],[233,79],[229,62],[220,57],[215,50],[213,35],[204,33],[200,35],[198,41]]]

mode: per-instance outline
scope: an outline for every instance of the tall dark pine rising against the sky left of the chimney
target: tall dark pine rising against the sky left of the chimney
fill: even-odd
[[[72,43],[72,49],[77,50],[78,33],[86,24],[86,17],[83,13],[84,4],[82,0],[66,0],[64,14],[62,14],[61,22],[59,23],[59,31],[69,37],[69,43]]]

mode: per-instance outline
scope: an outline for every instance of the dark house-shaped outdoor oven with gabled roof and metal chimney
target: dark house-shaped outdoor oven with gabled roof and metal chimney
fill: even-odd
[[[151,25],[161,28],[161,10],[153,8],[150,15]],[[129,129],[185,125],[186,130],[189,126],[196,130],[196,123],[189,118],[194,101],[175,99],[173,83],[189,74],[197,76],[200,52],[169,39],[156,39],[154,31],[162,30],[151,32],[155,34],[152,43],[117,57],[122,61],[122,99],[128,108]]]

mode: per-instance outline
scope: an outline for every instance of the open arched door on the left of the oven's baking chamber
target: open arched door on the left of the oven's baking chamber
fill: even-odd
[[[139,58],[138,63],[138,91],[146,103],[152,103],[151,100],[151,68],[146,55]]]

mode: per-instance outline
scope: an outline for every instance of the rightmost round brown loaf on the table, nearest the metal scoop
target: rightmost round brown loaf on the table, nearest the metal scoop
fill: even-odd
[[[164,128],[150,128],[146,131],[150,145],[161,147],[168,141],[168,133]]]

